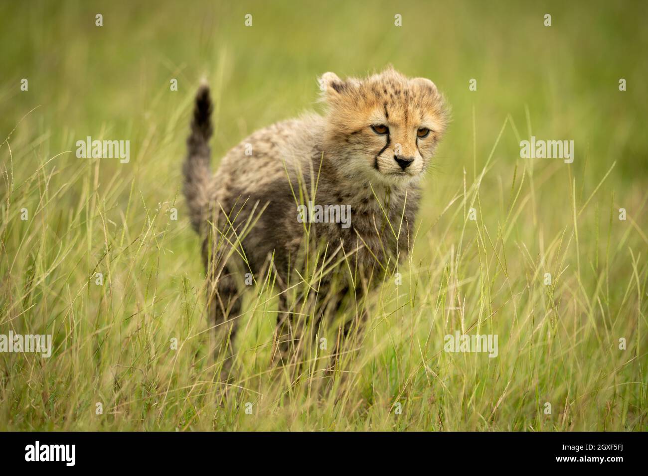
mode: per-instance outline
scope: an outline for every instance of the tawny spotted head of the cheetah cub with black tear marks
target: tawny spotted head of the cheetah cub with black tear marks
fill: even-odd
[[[325,73],[319,84],[327,104],[325,148],[339,172],[396,187],[420,179],[448,122],[432,81],[389,67],[365,79]]]

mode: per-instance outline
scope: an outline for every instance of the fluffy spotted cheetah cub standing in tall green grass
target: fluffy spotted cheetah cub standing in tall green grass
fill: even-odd
[[[183,192],[203,240],[207,310],[228,375],[242,291],[253,280],[277,288],[272,352],[283,363],[314,332],[335,329],[332,319],[352,303],[335,356],[367,318],[367,291],[410,249],[419,182],[448,122],[443,97],[432,81],[391,67],[362,79],[325,73],[319,83],[324,115],[256,131],[216,174],[209,88],[196,95]],[[308,339],[305,322],[315,323]]]

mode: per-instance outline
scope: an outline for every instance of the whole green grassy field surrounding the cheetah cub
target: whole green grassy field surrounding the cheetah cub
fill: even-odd
[[[647,10],[0,3],[0,334],[54,346],[0,354],[0,429],[645,431]],[[299,378],[270,367],[277,291],[259,284],[220,398],[180,193],[200,78],[217,165],[255,129],[321,109],[319,74],[388,63],[431,78],[453,118],[402,284],[372,295],[334,378],[326,352]],[[573,140],[573,163],[521,158],[532,135]],[[129,140],[130,161],[77,158],[87,136]],[[444,352],[457,330],[498,335],[498,356]]]

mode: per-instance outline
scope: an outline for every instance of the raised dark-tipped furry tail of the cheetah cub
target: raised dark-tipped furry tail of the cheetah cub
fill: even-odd
[[[203,214],[208,202],[207,188],[211,180],[209,137],[213,132],[212,108],[209,86],[203,82],[196,93],[191,133],[187,137],[187,159],[182,168],[185,176],[183,193],[189,207],[191,225],[196,231],[204,218]]]

